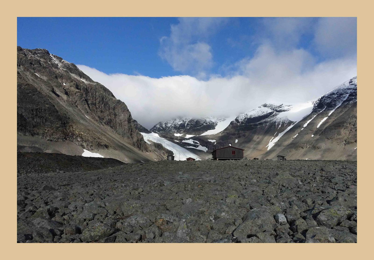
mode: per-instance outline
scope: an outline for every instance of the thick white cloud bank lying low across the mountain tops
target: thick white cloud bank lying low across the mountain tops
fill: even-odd
[[[240,73],[207,81],[192,76],[107,75],[78,67],[124,101],[134,119],[151,128],[178,116],[232,116],[263,103],[309,101],[357,74],[355,59],[316,64],[309,56],[304,50],[277,54],[262,46],[253,59],[241,62]]]

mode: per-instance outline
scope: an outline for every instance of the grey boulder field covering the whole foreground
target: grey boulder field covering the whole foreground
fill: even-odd
[[[17,242],[357,242],[356,162],[27,162]]]

